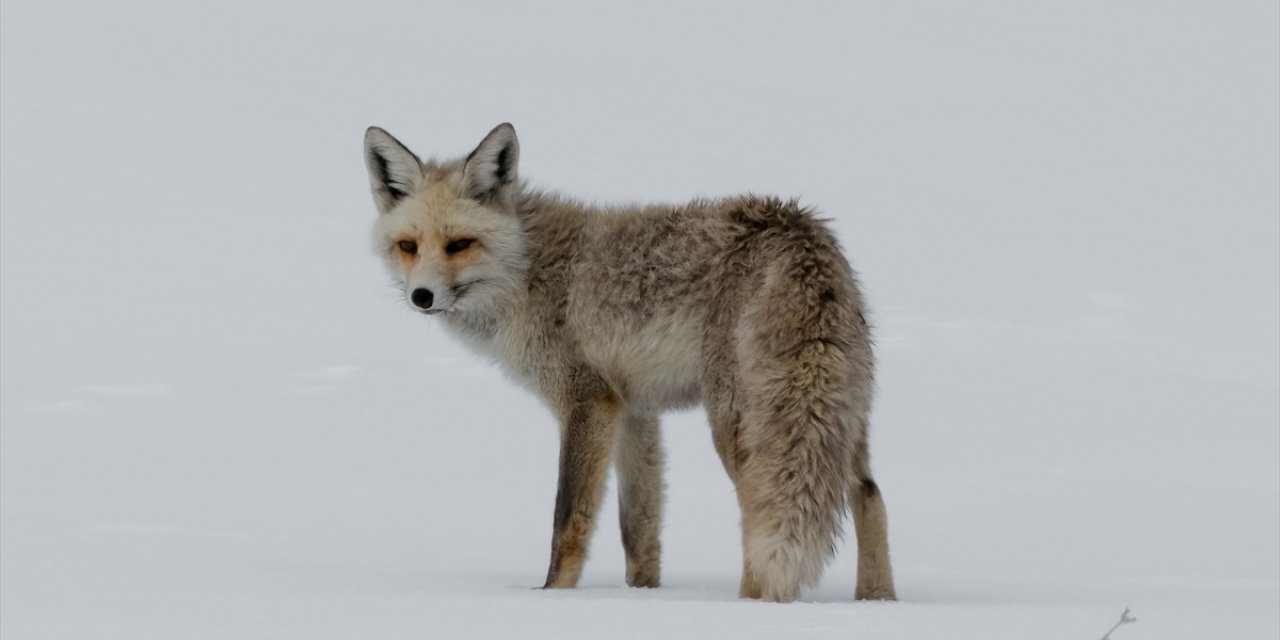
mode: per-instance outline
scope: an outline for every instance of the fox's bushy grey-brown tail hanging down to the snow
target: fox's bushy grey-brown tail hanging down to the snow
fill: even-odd
[[[817,221],[787,223],[760,243],[768,266],[737,346],[744,595],[781,602],[815,582],[835,552],[858,484],[851,461],[865,442],[872,387],[849,265]]]

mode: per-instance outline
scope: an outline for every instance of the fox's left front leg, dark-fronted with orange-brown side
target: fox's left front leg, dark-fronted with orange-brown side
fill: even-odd
[[[622,402],[613,392],[600,390],[576,398],[561,413],[559,485],[547,589],[572,588],[582,573]]]

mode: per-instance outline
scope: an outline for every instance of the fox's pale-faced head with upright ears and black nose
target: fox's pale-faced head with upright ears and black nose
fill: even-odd
[[[378,205],[374,250],[415,310],[483,311],[518,283],[518,161],[520,142],[507,123],[471,155],[445,163],[422,163],[378,127],[365,132]]]

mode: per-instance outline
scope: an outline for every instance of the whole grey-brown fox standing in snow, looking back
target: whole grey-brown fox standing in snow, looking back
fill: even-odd
[[[626,584],[660,584],[664,411],[701,404],[741,511],[739,596],[792,602],[858,539],[854,596],[893,600],[872,477],[870,329],[814,210],[773,196],[594,206],[520,178],[503,123],[422,161],[365,132],[374,251],[408,306],[558,420],[547,589],[577,585],[609,467]]]

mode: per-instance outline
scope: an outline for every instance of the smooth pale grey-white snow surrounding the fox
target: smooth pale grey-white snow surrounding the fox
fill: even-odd
[[[780,5],[782,3],[778,3]],[[0,6],[5,640],[1280,634],[1275,3]],[[388,288],[379,124],[598,201],[833,219],[902,602],[736,600],[669,416],[664,586],[549,556],[556,426]]]

